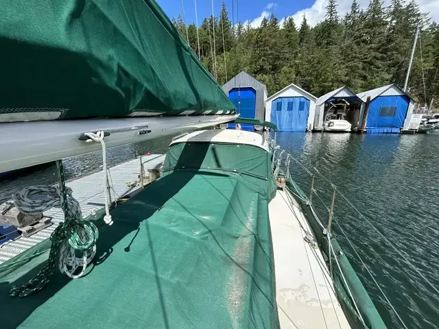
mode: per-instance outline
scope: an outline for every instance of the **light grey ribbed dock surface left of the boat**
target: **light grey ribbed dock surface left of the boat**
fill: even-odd
[[[146,171],[163,162],[165,155],[152,154],[150,156],[143,156],[142,160],[143,167]],[[111,199],[113,201],[132,192],[136,188],[127,186],[126,183],[139,180],[139,172],[139,159],[123,162],[110,169],[110,184],[112,184]],[[66,182],[66,186],[71,187],[73,197],[80,202],[82,215],[84,217],[91,215],[96,210],[105,206],[104,173],[102,171],[70,180]],[[52,222],[54,224],[32,236],[21,236],[14,241],[0,245],[0,264],[49,238],[58,224],[64,220],[64,214],[60,208],[47,210],[44,212],[44,215],[53,217]]]

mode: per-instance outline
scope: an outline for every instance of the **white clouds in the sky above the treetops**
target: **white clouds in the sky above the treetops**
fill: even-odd
[[[406,2],[408,2],[408,0]],[[417,0],[417,2],[421,12],[429,12],[429,17],[431,17],[431,20],[439,23],[439,10],[438,10],[439,0]],[[359,4],[360,8],[366,10],[366,8],[369,5],[369,0],[357,0],[357,3]],[[351,10],[351,4],[352,4],[352,0],[337,1],[337,12],[340,18],[343,18],[346,12],[349,12],[349,10]],[[326,10],[327,5],[328,5],[328,0],[316,0],[316,2],[314,2],[310,8],[299,10],[291,17],[294,19],[296,26],[299,26],[300,23],[302,23],[303,15],[305,14],[305,16],[307,17],[308,24],[314,26],[317,23],[323,21],[324,15],[326,14],[327,11]],[[390,0],[384,0],[383,5],[384,6],[390,5]],[[257,19],[254,19],[252,21],[246,21],[246,23],[250,22],[250,25],[252,27],[259,27],[264,17],[267,18],[270,17],[271,12],[269,12],[268,10],[274,9],[276,7],[277,7],[276,3],[268,3],[268,5],[265,6],[263,12],[261,12],[261,16],[257,17]],[[283,17],[279,21],[283,23],[283,21],[285,21],[286,18],[287,17]]]

